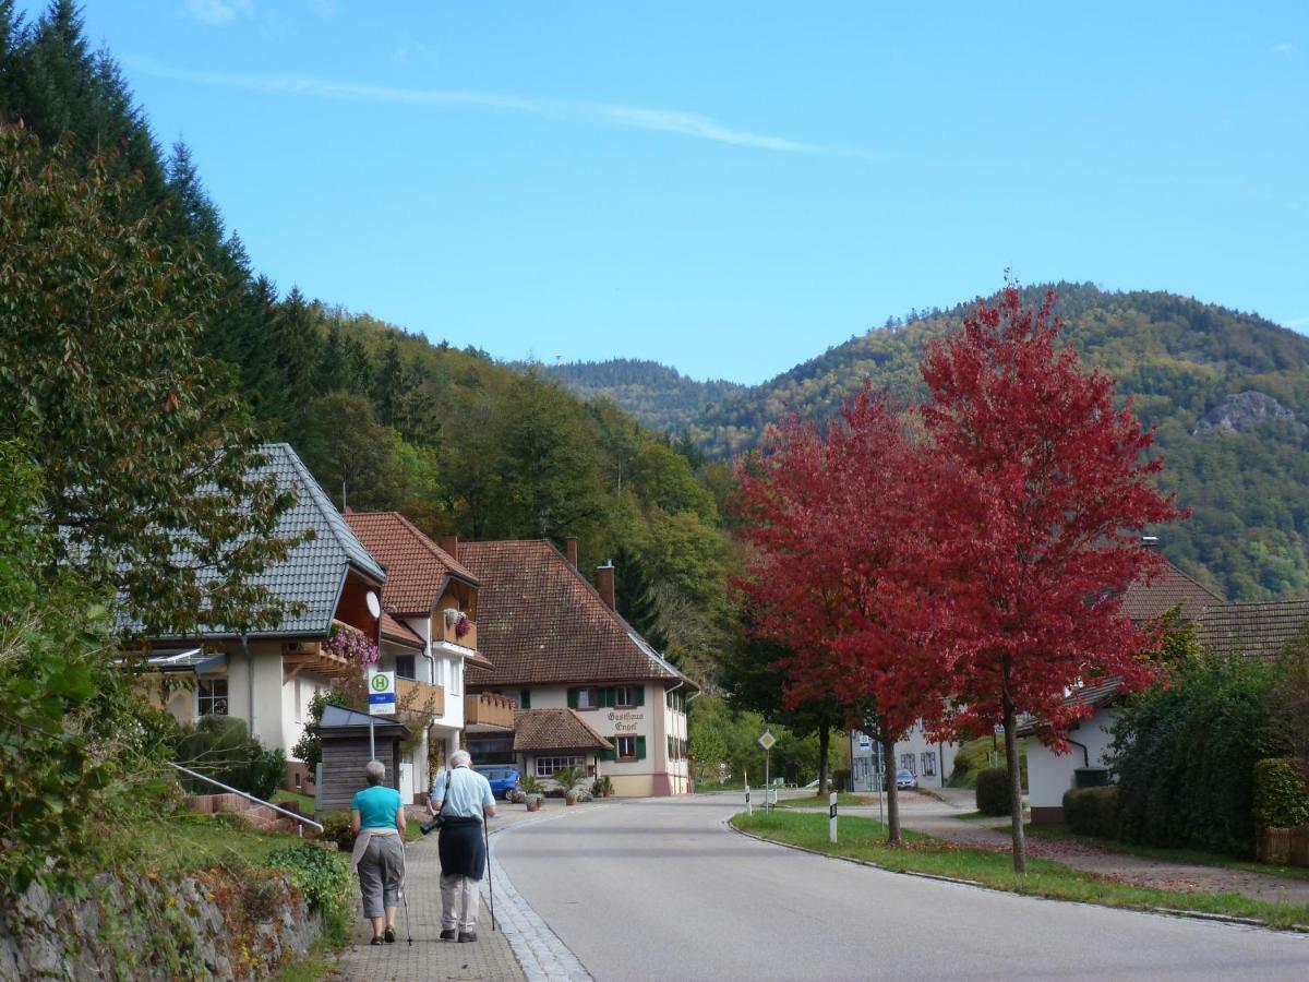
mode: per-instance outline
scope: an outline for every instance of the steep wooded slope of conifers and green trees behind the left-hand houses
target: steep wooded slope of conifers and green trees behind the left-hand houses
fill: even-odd
[[[0,128],[14,160],[120,185],[124,204],[109,221],[144,220],[152,241],[200,258],[203,288],[170,310],[198,322],[198,343],[186,329],[185,374],[240,394],[259,436],[291,443],[334,501],[399,509],[433,534],[577,536],[586,568],[620,558],[619,606],[637,630],[687,670],[708,665],[723,643],[732,549],[721,490],[694,453],[613,403],[495,363],[475,339],[433,344],[260,276],[191,153],[161,149],[71,0],[30,21],[0,0]]]

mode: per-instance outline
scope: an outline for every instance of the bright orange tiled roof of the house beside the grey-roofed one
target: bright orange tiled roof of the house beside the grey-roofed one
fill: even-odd
[[[478,577],[466,566],[399,512],[351,512],[346,521],[364,549],[386,568],[382,605],[395,614],[429,613],[448,576],[478,585]]]

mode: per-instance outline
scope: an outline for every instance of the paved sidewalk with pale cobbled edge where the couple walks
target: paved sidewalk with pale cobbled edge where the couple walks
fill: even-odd
[[[555,805],[555,807],[551,807]],[[407,943],[404,906],[401,905],[395,944],[370,945],[372,928],[363,918],[355,890],[355,923],[351,945],[344,951],[330,978],[342,982],[418,982],[419,979],[495,979],[500,982],[555,982],[556,979],[589,979],[585,969],[518,897],[500,864],[495,845],[500,833],[524,822],[552,821],[581,813],[593,805],[564,810],[562,801],[548,800],[541,812],[529,813],[524,805],[500,805],[500,814],[491,820],[491,885],[495,888],[495,913],[499,931],[491,930],[487,882],[482,882],[482,917],[478,940],[458,944],[440,940],[441,932],[441,860],[436,835],[408,843],[408,917],[414,944]],[[521,961],[521,964],[520,964]],[[526,969],[526,972],[525,972]]]

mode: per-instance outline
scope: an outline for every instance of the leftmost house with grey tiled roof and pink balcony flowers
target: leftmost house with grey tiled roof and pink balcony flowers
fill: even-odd
[[[251,581],[287,613],[268,628],[217,627],[151,639],[151,663],[161,673],[194,680],[194,686],[165,689],[165,708],[178,720],[208,714],[245,720],[264,746],[288,754],[287,786],[308,790],[313,775],[289,754],[309,720],[309,702],[334,678],[359,672],[325,643],[343,630],[378,636],[380,618],[372,611],[380,608],[386,573],[288,444],[268,444],[262,453],[267,462],[258,473],[274,474],[279,491],[297,495],[276,534],[304,541]]]

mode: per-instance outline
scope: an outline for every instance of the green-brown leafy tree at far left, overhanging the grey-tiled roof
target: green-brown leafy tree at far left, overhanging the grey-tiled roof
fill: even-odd
[[[215,280],[134,181],[0,130],[0,437],[43,470],[51,563],[119,592],[149,634],[280,617],[251,573],[284,556],[292,498],[223,372],[196,354]]]

